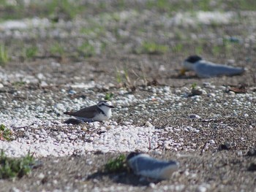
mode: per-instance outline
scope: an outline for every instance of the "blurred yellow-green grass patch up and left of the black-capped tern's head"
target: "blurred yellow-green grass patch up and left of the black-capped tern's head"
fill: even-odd
[[[146,54],[163,54],[169,50],[167,45],[159,45],[154,42],[143,42],[140,48],[136,50],[136,53],[146,53]]]

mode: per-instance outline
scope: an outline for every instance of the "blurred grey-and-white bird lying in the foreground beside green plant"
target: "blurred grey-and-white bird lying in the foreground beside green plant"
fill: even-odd
[[[178,161],[162,161],[143,153],[129,153],[127,164],[135,174],[156,180],[170,179],[178,169]]]

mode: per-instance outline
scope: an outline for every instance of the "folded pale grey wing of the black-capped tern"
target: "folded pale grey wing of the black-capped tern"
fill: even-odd
[[[211,62],[201,61],[195,69],[198,77],[216,77],[221,75],[242,74],[244,69],[241,67],[226,66],[222,64],[213,64]]]

